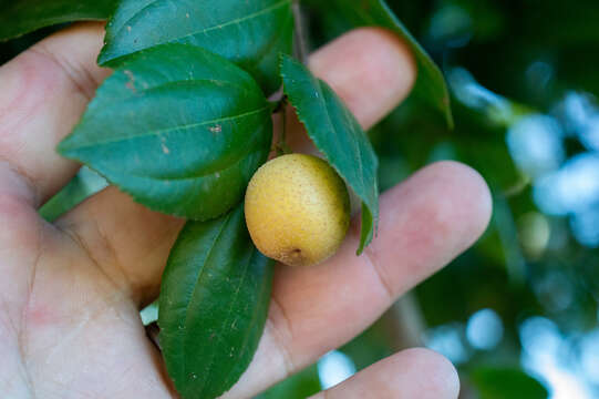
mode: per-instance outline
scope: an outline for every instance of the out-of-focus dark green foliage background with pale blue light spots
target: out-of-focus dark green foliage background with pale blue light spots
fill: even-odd
[[[381,187],[455,160],[494,197],[484,237],[415,289],[423,345],[458,367],[463,398],[544,397],[523,371],[551,398],[599,397],[599,2],[388,3],[442,66],[456,127],[410,98],[370,132]],[[348,29],[308,17],[312,48]],[[0,61],[47,33],[0,44]],[[392,310],[340,350],[359,370],[403,348],[401,330]],[[261,398],[319,387],[313,366]]]

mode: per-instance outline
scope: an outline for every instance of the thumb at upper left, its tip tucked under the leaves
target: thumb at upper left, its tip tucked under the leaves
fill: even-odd
[[[55,147],[109,74],[95,64],[102,35],[101,23],[76,24],[0,68],[0,161],[27,183],[32,204],[48,200],[79,167]]]

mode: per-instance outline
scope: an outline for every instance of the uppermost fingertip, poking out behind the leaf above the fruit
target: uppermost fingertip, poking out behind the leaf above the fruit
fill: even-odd
[[[343,34],[311,55],[310,69],[332,86],[365,129],[397,106],[416,80],[412,51],[382,28]]]

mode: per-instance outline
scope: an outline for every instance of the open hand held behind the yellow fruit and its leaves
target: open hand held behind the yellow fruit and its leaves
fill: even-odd
[[[101,24],[78,24],[0,68],[0,392],[6,398],[175,397],[138,310],[156,298],[184,222],[153,213],[114,187],[54,224],[37,212],[79,167],[54,149],[110,73],[95,65],[102,37]],[[338,39],[313,54],[310,66],[364,127],[395,108],[415,79],[406,47],[375,29]],[[290,123],[296,147],[306,145],[299,123]],[[379,236],[362,256],[354,253],[354,223],[327,264],[279,266],[258,352],[225,397],[249,398],[358,335],[472,245],[489,213],[478,174],[437,163],[381,197]],[[412,349],[327,395],[443,399],[457,391],[447,360]]]

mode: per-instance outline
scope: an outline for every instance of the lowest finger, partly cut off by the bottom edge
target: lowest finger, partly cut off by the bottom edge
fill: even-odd
[[[457,399],[453,365],[427,349],[407,349],[360,371],[311,399]]]

